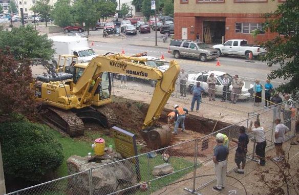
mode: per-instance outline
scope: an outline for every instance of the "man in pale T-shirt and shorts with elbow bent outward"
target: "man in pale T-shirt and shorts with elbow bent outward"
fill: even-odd
[[[285,158],[285,151],[283,149],[283,142],[285,141],[285,134],[290,131],[290,129],[281,124],[281,119],[275,119],[275,134],[274,134],[274,145],[276,151],[276,157],[273,158],[274,161],[278,162]]]

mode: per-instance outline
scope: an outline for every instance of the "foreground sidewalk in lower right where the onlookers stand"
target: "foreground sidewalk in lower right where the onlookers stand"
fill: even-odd
[[[284,147],[285,151],[288,151],[288,149],[290,147],[290,142],[291,142],[291,140],[284,143],[283,147]],[[273,147],[266,152],[266,157],[269,157],[269,156],[274,157],[275,156],[275,149]],[[297,168],[299,167],[299,165],[297,163],[298,154],[299,154],[298,148],[299,148],[299,145],[294,145],[291,147],[291,149],[289,151],[289,159],[290,159],[289,163],[293,170],[297,170]],[[230,155],[234,155],[234,151],[232,153],[233,154],[230,154]],[[231,164],[232,162],[229,162],[229,163]],[[196,174],[197,176],[215,174],[215,172],[213,170],[212,162],[206,163],[203,166],[205,166],[204,171],[202,171],[202,172],[197,171],[197,174]],[[202,187],[201,189],[197,190],[196,192],[199,194],[202,194],[202,195],[204,195],[204,194],[205,195],[233,195],[233,194],[245,195],[246,194],[246,192],[244,190],[244,187],[245,187],[248,195],[249,194],[258,194],[258,193],[265,194],[267,192],[266,191],[267,189],[262,188],[261,183],[259,186],[257,185],[258,180],[260,178],[259,178],[259,176],[255,175],[255,174],[257,173],[257,171],[259,169],[268,170],[269,168],[277,169],[277,167],[274,165],[274,163],[271,162],[270,160],[267,160],[266,166],[264,166],[264,167],[258,165],[254,161],[249,161],[246,163],[244,175],[237,174],[234,171],[231,171],[227,174],[225,189],[223,189],[221,191],[212,189],[212,187],[216,185],[216,181],[213,181],[212,183],[207,184],[206,186]],[[202,170],[202,168],[201,168],[201,170]],[[182,179],[191,178],[191,177],[193,177],[193,174],[194,174],[193,172],[190,172],[188,175],[186,175]],[[294,175],[294,174],[295,174],[295,171],[292,172],[292,175]],[[273,178],[273,176],[270,174],[265,174],[265,177],[269,179],[268,181],[271,181],[270,178]],[[212,179],[212,178],[216,178],[216,176],[197,178],[195,188],[199,188],[200,186],[205,185],[204,178]],[[234,178],[239,180],[242,184]],[[182,180],[182,179],[180,179],[180,180]],[[190,188],[192,186],[192,183],[193,183],[193,179],[186,180],[186,181],[174,184],[174,185],[166,186],[166,190],[165,190],[165,188],[163,188],[161,190],[156,191],[153,194],[155,194],[155,195],[158,195],[158,194],[161,194],[161,195],[187,194],[187,191],[184,190],[184,188],[185,187]],[[242,185],[244,185],[244,187]],[[283,186],[283,188],[284,187],[285,186]],[[290,194],[294,194],[294,193],[292,193],[292,191],[290,191],[290,192],[291,192]]]

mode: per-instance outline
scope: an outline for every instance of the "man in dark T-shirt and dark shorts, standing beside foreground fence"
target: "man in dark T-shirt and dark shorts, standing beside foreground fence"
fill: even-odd
[[[238,169],[234,170],[237,174],[244,174],[244,168],[246,163],[247,145],[249,143],[248,135],[245,133],[245,126],[240,127],[239,139],[233,138],[231,141],[238,144],[236,154],[234,155],[234,162],[236,162]],[[242,162],[242,168],[240,166]]]

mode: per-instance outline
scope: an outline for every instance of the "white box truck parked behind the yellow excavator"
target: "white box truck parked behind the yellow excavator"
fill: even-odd
[[[52,36],[52,49],[55,50],[52,66],[57,67],[58,55],[69,54],[78,56],[78,62],[89,62],[96,57],[94,50],[88,46],[87,38],[73,36]],[[71,62],[70,62],[71,63]]]

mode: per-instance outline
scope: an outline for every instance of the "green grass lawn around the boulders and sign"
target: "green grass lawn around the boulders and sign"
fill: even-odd
[[[84,157],[87,156],[88,153],[92,153],[92,154],[94,153],[93,148],[91,147],[91,144],[93,144],[92,140],[101,137],[105,140],[106,146],[113,145],[113,149],[115,149],[113,138],[106,136],[101,132],[86,131],[84,133],[84,138],[81,139],[69,138],[69,137],[63,138],[58,132],[54,130],[53,130],[53,135],[62,144],[63,155],[65,156],[62,165],[56,170],[56,175],[58,178],[68,175],[66,161],[68,160],[69,157],[73,155]],[[165,162],[162,160],[160,154],[158,154],[155,158],[150,158],[150,159],[148,159],[146,155],[140,156],[139,166],[140,166],[141,182],[151,181],[155,179],[155,177],[152,175],[153,168],[154,166],[163,163]],[[193,165],[193,162],[190,162],[181,157],[170,157],[168,163],[172,164],[172,166],[174,167],[174,171],[178,171]],[[176,172],[175,174],[169,175],[165,178],[160,178],[158,180],[152,181],[150,182],[150,190],[152,192],[156,191],[161,187],[163,187],[163,185],[167,185],[169,183],[177,181],[178,179],[180,179],[190,171],[193,171],[193,167],[183,171]],[[55,194],[55,192],[53,194]],[[60,193],[58,192],[57,194]],[[136,191],[135,194],[147,194],[147,192]]]

